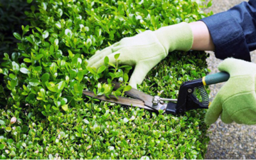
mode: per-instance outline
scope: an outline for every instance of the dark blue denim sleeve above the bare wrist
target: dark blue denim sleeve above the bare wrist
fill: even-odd
[[[216,58],[251,61],[256,49],[256,1],[243,2],[227,12],[202,19],[215,45]]]

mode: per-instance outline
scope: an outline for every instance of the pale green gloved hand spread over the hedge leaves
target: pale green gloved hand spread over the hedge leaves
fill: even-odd
[[[131,79],[132,88],[141,84],[147,73],[163,60],[168,52],[189,51],[193,44],[193,33],[186,22],[166,26],[156,31],[144,31],[136,36],[123,38],[106,49],[96,53],[88,61],[89,67],[99,68],[104,65],[104,58],[115,63],[115,54],[120,65],[135,66]]]

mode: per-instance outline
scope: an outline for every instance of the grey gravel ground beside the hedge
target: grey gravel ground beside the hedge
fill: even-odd
[[[241,2],[241,0],[213,0],[209,10],[219,13]],[[209,53],[211,56],[207,59],[207,63],[212,70],[211,74],[214,74],[218,72],[217,66],[221,60],[216,59],[213,52]],[[256,51],[251,52],[251,56],[253,63],[256,63]],[[211,101],[223,84],[210,86]],[[219,118],[209,128],[209,137],[205,159],[256,159],[256,125],[223,124]]]

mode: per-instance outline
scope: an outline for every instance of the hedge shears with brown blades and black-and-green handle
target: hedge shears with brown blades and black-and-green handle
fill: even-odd
[[[92,91],[86,90],[84,90],[83,93],[84,95],[88,95],[89,97],[99,100],[114,102],[125,106],[144,108],[156,112],[163,110],[167,114],[176,115],[191,109],[207,109],[210,102],[204,86],[225,82],[229,77],[230,76],[227,72],[218,72],[193,81],[186,81],[180,86],[178,99],[163,99],[159,96],[148,95],[134,88],[125,92],[125,95],[132,98],[118,97],[117,99],[113,95],[110,95],[109,98],[107,98],[104,95],[95,95]],[[112,83],[115,83],[114,90],[117,90],[120,87],[120,83]],[[196,88],[198,88],[198,91],[200,92],[202,102],[200,102],[194,94]],[[168,102],[166,103],[166,101]]]

